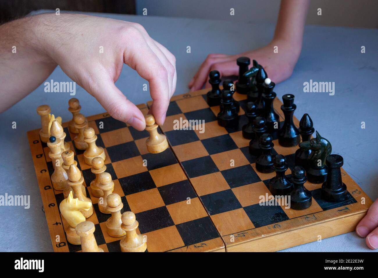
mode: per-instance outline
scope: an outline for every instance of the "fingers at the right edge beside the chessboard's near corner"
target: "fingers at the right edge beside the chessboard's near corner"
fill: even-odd
[[[366,238],[366,245],[370,249],[378,248],[378,199],[371,205],[366,216],[356,227],[357,235]]]

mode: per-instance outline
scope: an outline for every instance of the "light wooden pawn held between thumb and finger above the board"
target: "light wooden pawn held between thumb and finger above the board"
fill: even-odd
[[[158,133],[158,125],[156,124],[153,115],[148,114],[145,116],[146,119],[146,130],[150,133],[150,137],[147,138],[146,145],[147,150],[152,154],[158,154],[163,152],[168,148],[167,137],[163,134]]]

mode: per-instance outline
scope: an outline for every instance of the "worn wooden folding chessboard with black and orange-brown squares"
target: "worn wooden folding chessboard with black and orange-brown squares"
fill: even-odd
[[[239,127],[226,129],[217,123],[219,107],[206,103],[207,91],[171,99],[166,123],[161,126],[170,148],[160,154],[148,153],[148,132],[139,132],[107,113],[87,117],[98,135],[96,143],[105,148],[107,172],[124,204],[121,212],[131,210],[136,214],[139,233],[147,235],[147,251],[276,251],[355,230],[372,201],[343,169],[343,182],[349,191],[344,202],[322,200],[321,184],[306,182],[305,187],[313,194],[312,205],[306,210],[259,205],[260,196],[271,195],[267,184],[275,174],[256,171],[257,157],[249,154],[249,140],[242,136],[241,128],[247,122],[246,95],[234,94],[240,102]],[[280,105],[276,99],[274,108],[282,124]],[[148,111],[144,104],[138,108],[144,114]],[[195,128],[174,130],[174,120],[180,118],[204,120],[204,132]],[[100,122],[103,129],[99,129]],[[294,123],[299,124],[296,118]],[[84,162],[83,151],[74,148],[74,135],[68,132],[67,124],[63,124],[66,141],[75,152],[84,184],[89,185],[94,174]],[[80,245],[71,245],[65,238],[67,222],[59,213],[63,193],[52,188],[49,149],[38,132],[29,131],[28,139],[54,251],[79,251]],[[297,147],[282,147],[276,135],[273,137],[274,153],[285,155],[292,169]],[[87,194],[95,209],[88,220],[95,223],[98,245],[104,251],[120,251],[120,238],[106,232],[105,221],[110,215],[98,210],[98,198],[91,195],[90,188]],[[60,242],[56,241],[57,235]]]

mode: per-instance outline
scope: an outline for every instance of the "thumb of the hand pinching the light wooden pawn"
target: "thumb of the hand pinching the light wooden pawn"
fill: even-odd
[[[146,121],[141,110],[126,98],[112,80],[99,81],[92,89],[91,95],[97,99],[110,116],[137,130],[146,128]]]

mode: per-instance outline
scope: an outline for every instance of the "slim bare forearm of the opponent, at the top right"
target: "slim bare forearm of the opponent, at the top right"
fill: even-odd
[[[301,51],[303,32],[310,0],[282,0],[274,40],[280,40]]]

